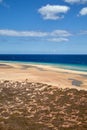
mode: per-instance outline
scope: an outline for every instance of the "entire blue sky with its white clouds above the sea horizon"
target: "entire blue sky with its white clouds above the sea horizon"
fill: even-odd
[[[87,0],[0,0],[0,54],[87,54]]]

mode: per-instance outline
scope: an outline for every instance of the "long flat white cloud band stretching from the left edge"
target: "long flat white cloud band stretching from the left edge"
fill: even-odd
[[[45,36],[53,36],[53,37],[68,37],[72,34],[66,30],[54,30],[52,32],[41,32],[41,31],[16,31],[16,30],[8,30],[2,29],[0,30],[1,36],[17,36],[17,37],[45,37]]]

